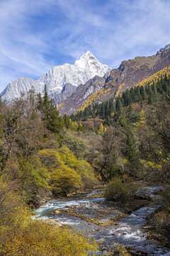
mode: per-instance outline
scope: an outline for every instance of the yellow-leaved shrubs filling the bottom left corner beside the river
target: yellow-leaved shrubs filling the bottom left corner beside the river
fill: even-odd
[[[8,186],[0,181],[0,255],[96,255],[98,245],[92,238],[73,229],[33,220],[15,190],[13,184]]]

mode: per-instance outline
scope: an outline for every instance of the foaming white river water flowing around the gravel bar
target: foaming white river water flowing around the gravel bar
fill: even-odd
[[[152,196],[157,188],[146,188],[145,193]],[[135,210],[130,215],[120,218],[116,225],[109,225],[109,227],[101,227],[94,223],[89,223],[86,220],[81,220],[75,216],[61,211],[60,214],[54,214],[55,210],[65,210],[70,206],[81,206],[82,204],[95,203],[105,201],[105,198],[90,198],[96,191],[89,193],[89,198],[81,199],[81,194],[67,198],[59,198],[45,203],[43,206],[35,210],[37,218],[52,219],[62,225],[74,226],[80,230],[84,230],[92,234],[96,240],[103,242],[103,245],[110,247],[112,242],[120,242],[129,247],[135,247],[135,250],[147,252],[148,255],[166,255],[170,256],[170,252],[166,248],[157,247],[151,240],[147,239],[147,233],[142,229],[146,224],[146,218],[153,213],[159,206],[144,206]],[[114,223],[115,224],[115,223]]]

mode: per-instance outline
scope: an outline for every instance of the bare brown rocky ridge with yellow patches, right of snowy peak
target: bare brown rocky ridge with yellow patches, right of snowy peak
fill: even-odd
[[[88,98],[84,99],[84,95],[79,93],[79,87],[77,87],[74,94],[62,103],[60,112],[72,114],[77,110],[84,110],[87,105],[93,102],[104,102],[111,97],[117,97],[120,92],[137,85],[142,80],[149,78],[149,76],[169,65],[170,44],[160,49],[156,55],[124,60],[119,68],[111,70],[111,73],[105,77],[103,88],[98,90],[98,93],[95,91],[94,94],[91,93]],[[93,91],[93,84],[91,84],[91,91]],[[77,93],[77,101],[81,101],[81,107],[75,105],[73,97],[75,93]]]

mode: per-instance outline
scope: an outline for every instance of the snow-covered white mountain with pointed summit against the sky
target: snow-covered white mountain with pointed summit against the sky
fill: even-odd
[[[3,100],[12,100],[20,97],[21,93],[28,90],[35,92],[43,92],[44,85],[47,85],[49,95],[59,95],[65,85],[70,84],[75,88],[80,84],[84,84],[95,75],[103,77],[111,68],[108,65],[101,64],[91,52],[86,52],[75,63],[57,65],[49,70],[38,80],[31,78],[18,78],[11,81],[8,86],[1,92]]]

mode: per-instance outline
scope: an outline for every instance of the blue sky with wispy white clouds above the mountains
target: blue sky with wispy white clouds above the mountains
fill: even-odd
[[[0,0],[0,91],[90,50],[103,64],[170,43],[169,0]]]

